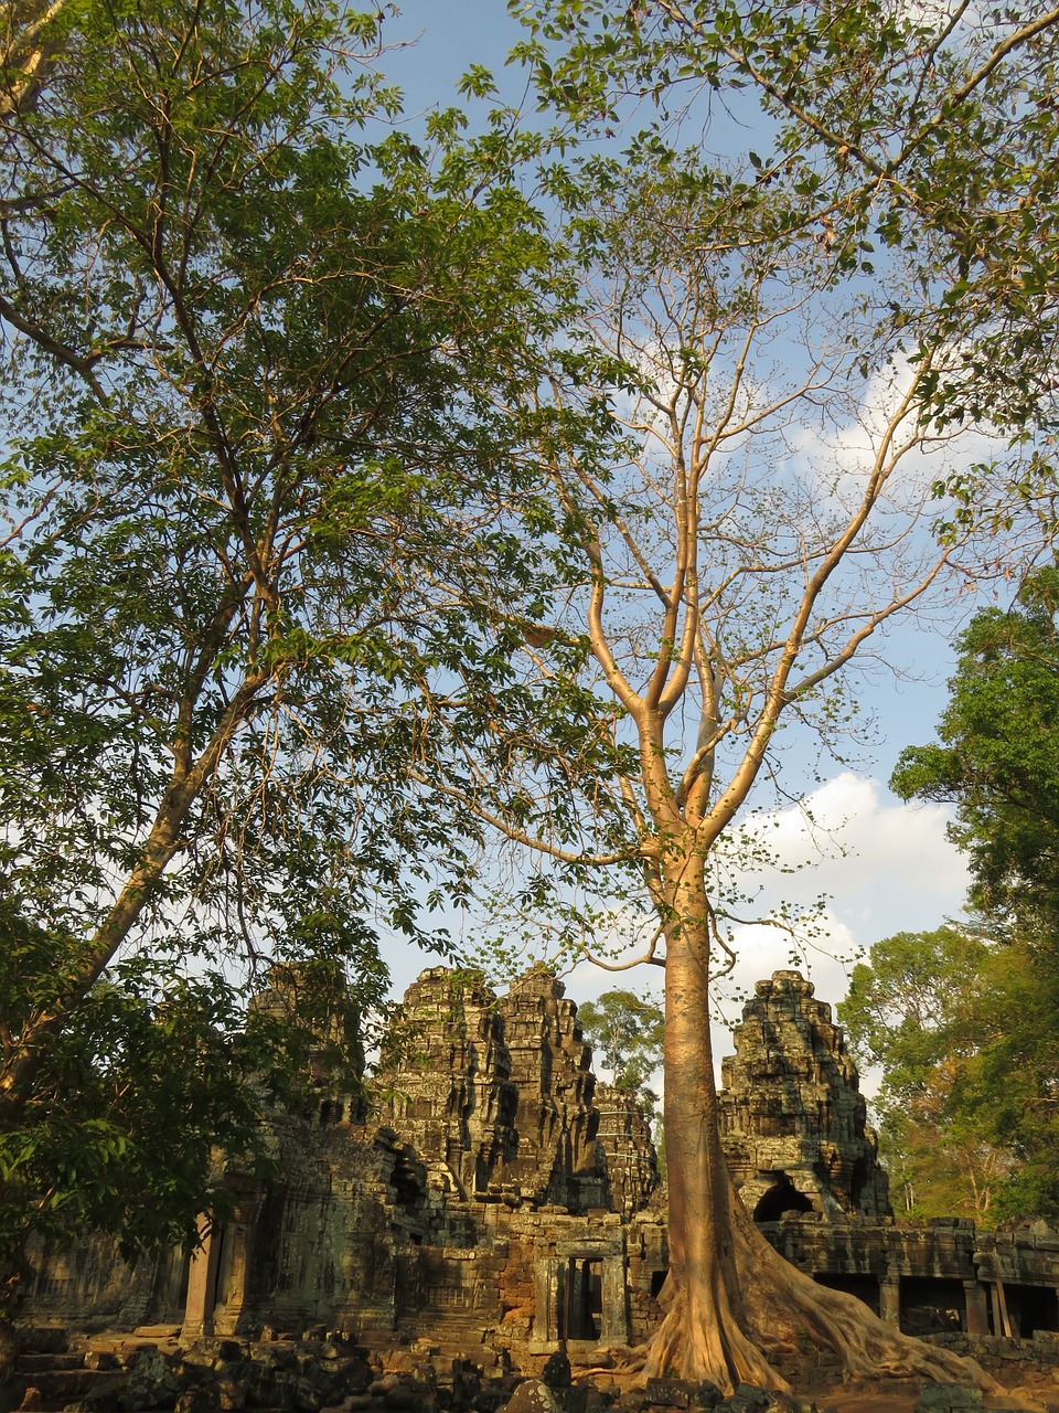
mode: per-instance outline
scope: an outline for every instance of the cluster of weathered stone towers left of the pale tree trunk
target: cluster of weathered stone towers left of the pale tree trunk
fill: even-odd
[[[401,1027],[415,1043],[380,1075],[378,1118],[446,1193],[623,1217],[647,1205],[658,1181],[647,1122],[596,1080],[578,1007],[549,972],[497,1000],[432,968],[405,992]]]

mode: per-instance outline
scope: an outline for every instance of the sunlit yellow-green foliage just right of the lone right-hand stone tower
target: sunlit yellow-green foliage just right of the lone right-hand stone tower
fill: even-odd
[[[853,969],[839,1017],[882,1067],[880,1152],[911,1215],[1059,1211],[1053,971],[1024,940],[955,927],[898,933]]]

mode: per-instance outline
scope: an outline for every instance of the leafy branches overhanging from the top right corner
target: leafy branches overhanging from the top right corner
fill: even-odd
[[[618,14],[609,0],[569,0],[541,11],[524,52],[575,124],[613,130],[630,100],[647,100],[648,129],[724,131],[727,109],[758,134],[757,179],[785,174],[816,198],[796,219],[820,240],[850,260],[864,240],[916,250],[918,280],[890,302],[912,359],[956,352],[931,372],[939,425],[986,422],[1024,452],[955,472],[952,514],[991,513],[1003,530],[1018,495],[1053,530],[1055,456],[1041,431],[1059,406],[1059,174],[1039,154],[1059,136],[1058,18],[1051,6],[993,6],[973,25],[959,0],[929,16],[881,0],[813,14],[702,0]],[[956,278],[935,284],[938,270]]]

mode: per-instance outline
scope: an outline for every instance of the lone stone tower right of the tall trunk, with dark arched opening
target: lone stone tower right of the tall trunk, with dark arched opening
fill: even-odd
[[[755,1218],[890,1215],[857,1067],[813,983],[796,971],[760,981],[734,1043],[722,1065],[722,1140]]]

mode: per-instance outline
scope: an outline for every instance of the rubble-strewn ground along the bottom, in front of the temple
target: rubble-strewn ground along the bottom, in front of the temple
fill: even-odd
[[[239,1340],[205,1340],[181,1351],[176,1328],[151,1327],[138,1337],[96,1334],[72,1337],[56,1327],[24,1331],[20,1376],[0,1388],[0,1413],[88,1410],[128,1413],[130,1409],[192,1413],[193,1397],[201,1413],[241,1410],[309,1410],[316,1413],[503,1413],[520,1379],[504,1371],[504,1361],[486,1368],[486,1355],[467,1351],[453,1362],[439,1348],[409,1344],[395,1349],[354,1351],[353,1340],[342,1337],[278,1337],[261,1344]],[[40,1352],[32,1352],[40,1351]],[[477,1352],[477,1358],[474,1354]],[[1059,1354],[1059,1351],[1058,1351]],[[1018,1359],[1025,1362],[1018,1362]],[[1031,1362],[1032,1361],[1032,1362]],[[1055,1368],[1049,1368],[1049,1364]],[[530,1375],[539,1390],[542,1413],[696,1413],[696,1388],[657,1381],[659,1386],[635,1386],[631,1368],[590,1371],[562,1356],[554,1356],[535,1371],[551,1388]],[[456,1375],[460,1365],[466,1373]],[[476,1371],[473,1366],[479,1365]],[[1036,1365],[1036,1366],[1034,1366]],[[472,1372],[473,1371],[473,1372]],[[527,1371],[528,1372],[528,1371]],[[1059,1358],[1052,1361],[1024,1341],[1022,1354],[1003,1371],[1008,1382],[1025,1382],[1007,1395],[986,1396],[953,1385],[923,1385],[921,1379],[873,1379],[837,1382],[820,1369],[816,1382],[795,1381],[794,1399],[778,1406],[798,1413],[1059,1413]],[[558,1376],[556,1376],[558,1375]],[[589,1385],[587,1389],[570,1389]],[[645,1399],[645,1392],[651,1396]],[[741,1393],[743,1390],[740,1390]],[[587,1393],[587,1397],[586,1397]],[[750,1413],[754,1399],[731,1405]],[[657,1397],[654,1396],[657,1395]],[[689,1397],[689,1395],[692,1395]],[[82,1399],[85,1400],[82,1403]],[[520,1400],[515,1400],[520,1402]],[[521,1397],[521,1403],[525,1403]],[[690,1405],[690,1406],[689,1406]]]

